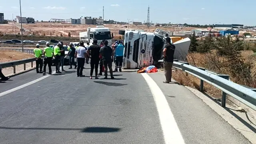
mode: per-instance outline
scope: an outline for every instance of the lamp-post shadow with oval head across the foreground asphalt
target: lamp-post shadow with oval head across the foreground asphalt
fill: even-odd
[[[0,129],[7,130],[80,130],[84,133],[106,133],[106,132],[118,132],[120,128],[110,127],[86,127],[86,128],[11,128],[11,127],[0,127]]]

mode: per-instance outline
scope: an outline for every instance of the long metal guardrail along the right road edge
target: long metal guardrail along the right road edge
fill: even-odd
[[[159,60],[158,62],[163,62],[163,60]],[[253,110],[256,110],[256,88],[236,84],[230,81],[229,75],[219,74],[217,72],[206,70],[205,68],[191,66],[188,62],[174,60],[172,66],[200,78],[201,92],[204,88],[204,82],[222,90],[222,107],[226,107],[226,96],[229,94]]]

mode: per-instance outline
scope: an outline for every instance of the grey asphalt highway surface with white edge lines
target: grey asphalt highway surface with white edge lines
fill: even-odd
[[[192,92],[163,84],[161,72],[90,80],[85,67],[86,77],[66,66],[0,83],[0,144],[250,144]]]

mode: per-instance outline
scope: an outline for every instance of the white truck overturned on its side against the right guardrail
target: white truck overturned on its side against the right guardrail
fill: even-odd
[[[137,69],[158,63],[162,59],[162,51],[166,45],[166,34],[163,30],[156,29],[154,32],[143,30],[120,30],[124,35],[124,69]],[[174,59],[185,60],[190,46],[189,38],[171,37],[172,44],[176,49]]]

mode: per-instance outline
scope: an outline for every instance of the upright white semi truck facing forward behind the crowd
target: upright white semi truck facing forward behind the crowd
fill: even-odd
[[[87,32],[80,32],[79,38],[81,42],[89,42],[92,45],[93,39],[98,40],[98,45],[102,42],[102,40],[108,40],[108,45],[112,45],[113,34],[110,33],[109,28],[105,28],[104,26],[96,26],[96,28],[87,28]]]

